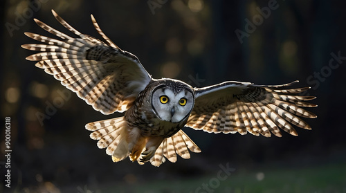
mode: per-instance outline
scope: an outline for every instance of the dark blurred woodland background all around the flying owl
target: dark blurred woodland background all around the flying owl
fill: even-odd
[[[329,64],[332,53],[346,57],[346,1],[277,0],[277,8],[257,20],[241,43],[235,30],[246,32],[246,19],[253,21],[256,8],[268,2],[1,1],[0,104],[3,124],[5,117],[11,118],[12,153],[11,188],[1,180],[0,192],[195,192],[203,183],[217,181],[219,165],[235,171],[218,179],[213,192],[346,192],[346,59]],[[152,11],[149,3],[158,7]],[[265,138],[184,128],[201,154],[179,157],[176,163],[167,160],[160,167],[128,158],[113,163],[84,125],[122,114],[94,111],[27,61],[34,52],[20,47],[38,43],[24,32],[53,37],[33,18],[72,35],[51,9],[80,32],[100,38],[91,23],[93,14],[104,33],[134,53],[154,78],[172,77],[197,87],[227,80],[300,80],[295,86],[312,87],[304,95],[318,97],[313,100],[318,107],[309,109],[318,118],[306,120],[311,131],[297,128],[298,137],[284,131],[282,138]],[[58,91],[71,93],[71,98],[61,98]],[[46,116],[39,121],[38,115]],[[1,154],[4,134],[1,129]],[[3,179],[6,160],[3,155],[0,160]]]

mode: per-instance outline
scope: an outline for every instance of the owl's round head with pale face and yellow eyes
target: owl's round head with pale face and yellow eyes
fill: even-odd
[[[161,120],[181,122],[190,116],[194,107],[194,91],[184,82],[159,80],[152,93],[152,108]]]

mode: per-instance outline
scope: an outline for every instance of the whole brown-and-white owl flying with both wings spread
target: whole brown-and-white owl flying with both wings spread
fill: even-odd
[[[311,129],[300,117],[316,118],[302,108],[316,107],[307,102],[315,97],[298,95],[309,87],[287,89],[298,81],[276,86],[228,81],[192,88],[179,80],[154,79],[135,55],[104,35],[93,15],[93,26],[104,42],[80,33],[52,12],[77,37],[34,19],[60,39],[25,33],[44,43],[22,45],[40,52],[26,59],[39,61],[35,66],[60,80],[96,111],[106,115],[125,112],[122,117],[85,126],[114,162],[129,157],[140,165],[150,162],[159,166],[166,158],[176,162],[176,154],[190,158],[190,151],[198,153],[201,149],[181,130],[183,127],[266,137],[280,137],[282,129],[297,136],[292,125]]]

